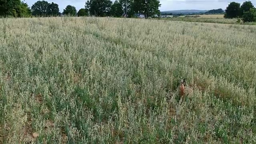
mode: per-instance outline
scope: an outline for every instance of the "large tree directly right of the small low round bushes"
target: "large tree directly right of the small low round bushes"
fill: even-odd
[[[110,0],[87,0],[85,8],[94,16],[109,16],[112,2]]]

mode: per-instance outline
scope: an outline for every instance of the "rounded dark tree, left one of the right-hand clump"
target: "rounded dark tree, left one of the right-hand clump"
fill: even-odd
[[[228,4],[226,10],[226,14],[224,15],[224,18],[237,18],[241,16],[240,14],[240,4],[237,2],[230,2]]]

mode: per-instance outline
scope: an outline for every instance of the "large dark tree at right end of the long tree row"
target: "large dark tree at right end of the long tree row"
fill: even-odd
[[[159,14],[160,6],[159,0],[133,0],[132,2],[132,10],[134,10],[135,13],[144,14],[146,19],[154,14]]]

